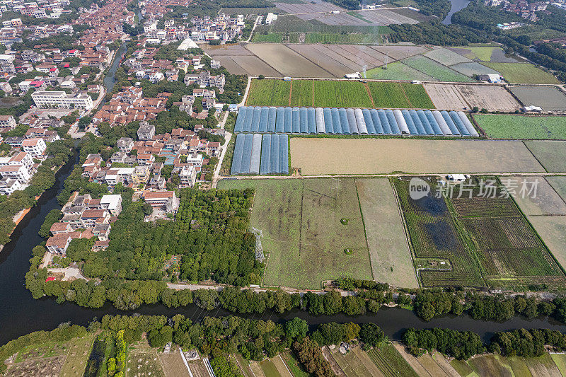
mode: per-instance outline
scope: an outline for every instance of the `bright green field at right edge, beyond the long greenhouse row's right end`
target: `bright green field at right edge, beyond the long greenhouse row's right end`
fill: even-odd
[[[492,139],[566,139],[566,117],[473,115]]]

